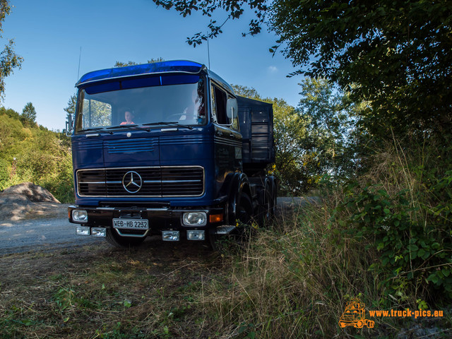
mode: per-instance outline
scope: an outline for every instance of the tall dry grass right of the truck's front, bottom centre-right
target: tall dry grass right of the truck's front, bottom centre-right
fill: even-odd
[[[231,254],[226,283],[203,287],[203,307],[217,315],[224,338],[331,338],[344,333],[338,319],[348,299],[377,307],[379,277],[367,268],[378,257],[331,222],[337,198],[283,215]]]

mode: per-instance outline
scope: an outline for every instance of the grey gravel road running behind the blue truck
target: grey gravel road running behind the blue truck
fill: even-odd
[[[278,198],[278,209],[287,210],[293,206],[303,205],[307,201],[309,199]],[[0,255],[105,242],[103,238],[77,236],[74,225],[65,216],[65,211],[66,206],[61,205],[61,213],[54,213],[53,218],[0,220]],[[158,238],[150,237],[146,242],[157,241]]]

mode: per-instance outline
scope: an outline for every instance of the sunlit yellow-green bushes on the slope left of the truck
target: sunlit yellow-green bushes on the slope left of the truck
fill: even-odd
[[[23,124],[12,109],[0,107],[0,190],[34,182],[61,202],[73,201],[71,147],[63,133]]]

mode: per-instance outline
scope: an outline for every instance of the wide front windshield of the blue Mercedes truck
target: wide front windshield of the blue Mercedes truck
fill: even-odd
[[[179,75],[84,88],[78,96],[76,132],[206,124],[204,83],[200,76]]]

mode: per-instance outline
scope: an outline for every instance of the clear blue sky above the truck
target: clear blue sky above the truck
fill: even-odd
[[[206,30],[208,18],[195,13],[183,18],[176,11],[157,8],[152,0],[12,0],[4,39],[13,38],[22,69],[6,78],[6,108],[21,113],[27,102],[37,112],[37,123],[64,129],[69,97],[78,77],[107,69],[116,61],[146,62],[187,59],[208,65],[207,44],[191,47],[186,38]],[[218,22],[225,14],[219,13]],[[229,20],[220,37],[210,40],[210,69],[228,83],[254,87],[263,97],[299,102],[301,78],[281,54],[268,52],[276,37],[266,29],[256,37],[242,37],[248,20]],[[78,60],[81,49],[80,73]]]

